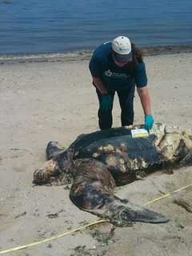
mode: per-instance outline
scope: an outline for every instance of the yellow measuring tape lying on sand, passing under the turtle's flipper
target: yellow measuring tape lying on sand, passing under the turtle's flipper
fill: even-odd
[[[161,199],[163,199],[163,198],[168,198],[171,194],[174,194],[174,193],[179,192],[179,191],[182,191],[182,190],[186,190],[186,189],[187,189],[188,187],[190,187],[190,186],[192,186],[192,184],[190,184],[190,185],[188,185],[188,186],[183,186],[182,188],[180,188],[180,189],[178,189],[178,190],[174,190],[174,191],[172,191],[172,192],[170,192],[170,193],[167,193],[167,194],[162,195],[162,197],[159,197],[159,198],[156,198],[156,199],[154,199],[154,200],[152,200],[152,201],[146,202],[143,206],[149,206],[149,205],[151,205],[152,203],[158,202],[159,200],[161,200]],[[75,229],[75,230],[70,230],[70,231],[64,232],[64,233],[62,233],[62,234],[58,234],[58,235],[52,236],[52,237],[50,237],[50,238],[43,239],[43,240],[38,241],[38,242],[32,242],[32,243],[29,243],[29,244],[27,244],[27,245],[25,245],[25,246],[18,246],[18,247],[14,247],[14,248],[11,248],[11,249],[8,249],[8,250],[1,250],[1,251],[0,251],[0,254],[12,253],[12,252],[14,252],[14,251],[16,251],[16,250],[22,250],[22,249],[30,248],[30,247],[32,247],[32,246],[38,246],[38,245],[41,244],[41,243],[50,242],[50,241],[55,240],[55,239],[57,239],[57,238],[62,238],[62,237],[64,237],[64,236],[66,236],[67,234],[74,234],[75,232],[78,232],[79,230],[84,230],[84,229],[86,229],[86,228],[89,227],[89,226],[94,226],[94,225],[99,224],[99,223],[102,223],[102,222],[109,222],[109,221],[106,220],[106,219],[101,219],[101,220],[98,220],[98,221],[96,221],[96,222],[91,222],[91,223],[86,224],[86,225],[84,225],[84,226],[80,226],[80,227],[78,227],[78,228]]]

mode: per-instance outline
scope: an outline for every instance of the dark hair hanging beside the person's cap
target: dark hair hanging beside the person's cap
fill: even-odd
[[[131,50],[132,62],[128,62],[126,66],[130,70],[130,74],[134,76],[136,66],[138,65],[138,63],[143,61],[143,54],[142,54],[142,50],[136,47],[133,42],[131,42],[131,49],[132,49]]]

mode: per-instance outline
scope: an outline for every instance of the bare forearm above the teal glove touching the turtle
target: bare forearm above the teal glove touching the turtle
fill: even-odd
[[[143,86],[141,88],[137,88],[138,95],[142,103],[142,109],[145,115],[151,115],[150,109],[150,92],[147,86]]]

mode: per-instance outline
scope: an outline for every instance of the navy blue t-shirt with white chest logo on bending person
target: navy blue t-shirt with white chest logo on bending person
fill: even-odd
[[[131,74],[127,66],[117,66],[111,54],[111,42],[103,43],[94,50],[89,67],[92,76],[101,78],[107,90],[124,90],[135,85],[137,87],[147,85],[145,63],[139,62],[134,74]]]

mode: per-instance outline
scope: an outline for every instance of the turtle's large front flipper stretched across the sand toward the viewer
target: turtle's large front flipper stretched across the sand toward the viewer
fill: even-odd
[[[94,159],[79,160],[75,170],[70,199],[81,210],[106,218],[116,226],[130,226],[131,222],[168,222],[162,214],[115,196],[114,178],[102,162]]]

